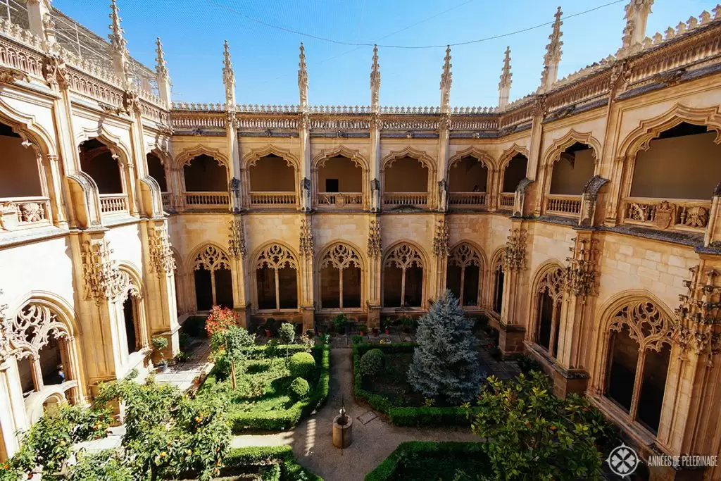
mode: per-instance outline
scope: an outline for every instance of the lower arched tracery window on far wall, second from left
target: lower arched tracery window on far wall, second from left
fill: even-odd
[[[270,244],[260,251],[255,281],[258,309],[298,309],[298,260],[287,247]]]

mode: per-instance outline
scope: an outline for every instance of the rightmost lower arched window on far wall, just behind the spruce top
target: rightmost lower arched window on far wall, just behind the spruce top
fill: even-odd
[[[461,306],[479,306],[483,258],[466,242],[457,245],[448,256],[446,286],[459,299]]]

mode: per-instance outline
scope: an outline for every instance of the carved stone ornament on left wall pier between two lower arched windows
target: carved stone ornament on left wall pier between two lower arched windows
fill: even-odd
[[[102,301],[125,301],[128,295],[140,296],[124,270],[115,267],[110,259],[112,249],[106,239],[86,241],[82,247],[85,298],[96,303]]]

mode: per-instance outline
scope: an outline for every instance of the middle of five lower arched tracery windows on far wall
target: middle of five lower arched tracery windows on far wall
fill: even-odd
[[[335,244],[320,262],[322,309],[361,307],[361,256],[353,247]]]

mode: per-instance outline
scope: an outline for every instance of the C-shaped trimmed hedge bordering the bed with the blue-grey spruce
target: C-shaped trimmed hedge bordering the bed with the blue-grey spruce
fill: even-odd
[[[363,376],[358,372],[361,356],[371,349],[384,353],[412,353],[416,343],[361,343],[353,345],[353,391],[355,399],[365,401],[374,410],[389,415],[391,423],[399,426],[471,425],[462,407],[397,407],[388,397],[363,389]]]

